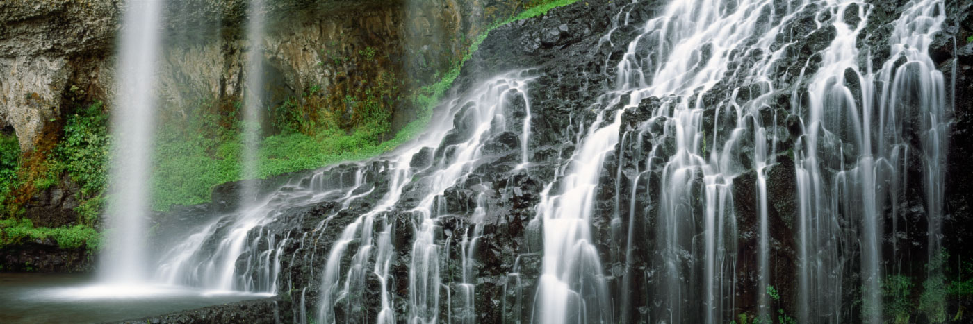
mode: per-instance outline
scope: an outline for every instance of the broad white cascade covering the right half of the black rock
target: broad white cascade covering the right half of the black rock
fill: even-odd
[[[801,271],[802,287],[807,288],[801,289],[805,295],[801,304],[802,319],[841,321],[847,318],[840,308],[844,283],[841,278],[847,271],[844,266],[853,262],[849,258],[858,254],[861,255],[859,264],[866,305],[863,316],[870,322],[881,322],[881,212],[890,205],[883,201],[887,196],[893,202],[891,206],[895,206],[894,199],[899,193],[888,190],[899,188],[897,178],[904,172],[897,165],[903,163],[905,154],[901,149],[906,146],[901,135],[886,138],[889,134],[901,133],[895,124],[901,122],[896,120],[902,119],[896,118],[902,110],[896,111],[895,104],[887,102],[903,101],[903,96],[909,96],[905,99],[912,101],[906,102],[920,108],[923,115],[920,128],[927,130],[922,136],[923,163],[926,165],[924,184],[927,201],[936,206],[928,212],[930,246],[936,246],[934,241],[938,240],[939,212],[936,209],[942,206],[943,179],[937,177],[942,175],[942,147],[945,143],[941,139],[946,138],[947,123],[943,113],[943,78],[932,64],[927,49],[931,35],[938,31],[945,13],[941,6],[941,2],[919,2],[903,14],[899,21],[906,22],[897,24],[892,38],[893,42],[899,43],[893,43],[893,53],[884,69],[892,70],[900,56],[907,57],[907,63],[903,68],[895,67],[902,69],[899,70],[901,75],[886,71],[884,81],[877,81],[872,77],[870,67],[859,68],[857,65],[863,54],[859,53],[856,41],[861,39],[859,33],[868,23],[870,6],[867,4],[853,1],[695,1],[668,5],[665,13],[650,19],[642,34],[629,44],[616,69],[616,90],[599,99],[598,106],[603,108],[595,122],[590,124],[592,129],[582,140],[580,153],[569,162],[568,173],[560,180],[564,195],[571,196],[567,200],[570,205],[565,208],[557,201],[560,196],[546,193],[544,203],[538,208],[539,214],[544,216],[546,278],[542,278],[538,289],[535,308],[539,310],[535,320],[558,323],[609,321],[610,313],[605,313],[604,309],[610,308],[611,301],[606,300],[599,289],[592,288],[602,280],[600,270],[597,267],[586,269],[598,262],[594,251],[585,250],[591,241],[586,233],[590,226],[586,220],[591,217],[592,203],[587,197],[595,195],[598,173],[605,157],[610,155],[604,149],[605,143],[614,146],[619,141],[617,132],[621,118],[616,117],[614,122],[607,123],[603,121],[605,113],[620,115],[649,97],[662,98],[662,101],[649,107],[653,116],[624,134],[623,141],[629,141],[624,145],[635,146],[639,154],[644,154],[639,158],[647,159],[644,163],[648,164],[645,171],[636,170],[639,176],[632,187],[637,186],[643,174],[651,173],[653,168],[662,168],[661,183],[658,184],[660,201],[652,203],[659,206],[655,211],[658,218],[654,240],[663,274],[662,278],[646,277],[655,282],[651,285],[655,287],[652,294],[660,296],[657,299],[663,303],[654,320],[715,323],[733,317],[738,251],[734,250],[736,243],[727,242],[736,242],[739,236],[739,220],[735,214],[739,207],[734,206],[736,199],[732,192],[734,186],[743,185],[735,183],[740,177],[756,189],[753,203],[756,205],[759,250],[755,262],[758,268],[755,295],[758,296],[759,318],[770,319],[772,277],[769,272],[771,239],[767,175],[779,154],[777,129],[783,121],[783,116],[778,119],[770,108],[782,92],[793,92],[793,98],[800,98],[807,92],[808,106],[803,106],[800,101],[792,103],[793,113],[804,117],[804,129],[808,132],[801,138],[801,143],[830,143],[828,146],[811,144],[796,150],[803,224],[799,245],[801,263],[807,267]],[[788,29],[793,29],[799,19],[809,14],[817,24],[814,31],[832,29],[834,39],[819,52],[821,61],[808,62],[807,65],[817,65],[815,72],[804,76],[802,71],[801,76],[793,76],[807,78],[806,83],[778,88],[782,83],[776,67],[790,50],[798,47],[798,37],[810,36],[795,35],[792,36],[794,40],[781,42],[780,35],[792,33]],[[629,24],[628,17],[628,14],[616,16],[618,20],[613,21],[612,31]],[[599,44],[605,46],[607,42],[604,40],[610,39],[611,35],[606,35]],[[640,47],[643,42],[655,47],[646,50],[647,47]],[[849,68],[856,80],[845,79],[849,76],[846,71]],[[897,76],[892,78],[893,74]],[[727,80],[731,75],[735,79]],[[707,91],[722,85],[720,82],[740,84],[746,92],[743,94],[738,88],[724,100],[707,100]],[[851,89],[848,83],[861,85]],[[886,88],[884,92],[892,93],[875,95],[879,92],[873,90],[873,83],[886,84],[886,87],[891,84],[892,89]],[[803,84],[808,87],[804,88]],[[900,89],[896,90],[896,87]],[[919,95],[914,94],[917,92]],[[621,102],[618,98],[622,98]],[[873,103],[875,98],[883,99]],[[883,116],[871,116],[875,111],[873,107],[883,112]],[[866,112],[864,116],[861,111]],[[706,134],[708,130],[703,128],[704,114],[708,112],[715,113],[711,134]],[[596,130],[597,127],[602,128]],[[820,133],[826,133],[824,140],[819,140]],[[874,135],[870,134],[874,133],[880,134],[879,139],[871,139]],[[655,137],[655,140],[649,140],[651,149],[639,144],[647,137]],[[707,139],[711,139],[711,147],[706,147]],[[881,143],[873,145],[873,141]],[[741,157],[743,154],[749,156]],[[833,171],[817,170],[817,161],[824,160],[819,157],[822,155],[837,165]],[[843,161],[843,155],[857,161],[851,163],[853,166],[845,167],[847,162]],[[654,166],[657,157],[668,161],[662,166]],[[637,166],[639,161],[634,164]],[[811,175],[807,174],[808,169],[813,169]],[[751,170],[754,178],[747,180]],[[822,176],[822,173],[830,176]],[[622,174],[620,169],[617,175]],[[578,182],[578,178],[586,179]],[[880,179],[888,182],[879,183]],[[810,192],[809,185],[821,189]],[[635,209],[637,198],[634,194],[629,216],[651,219],[653,215],[649,211]],[[651,201],[653,197],[656,195],[648,193],[646,198]],[[691,203],[693,199],[702,202]],[[645,204],[648,205],[651,204]],[[815,213],[811,214],[811,210]],[[702,227],[698,220],[701,218]],[[583,221],[579,227],[555,225],[554,221],[564,219]],[[621,222],[617,215],[613,219]],[[848,225],[855,222],[860,224],[857,225],[860,230],[849,236]],[[821,224],[823,228],[810,224]],[[630,231],[633,227],[630,224]],[[568,239],[565,240],[565,236]],[[630,240],[631,236],[630,232]],[[631,241],[629,245],[631,248]],[[817,254],[811,255],[809,251]],[[930,255],[935,253],[935,250],[930,251]],[[700,263],[703,263],[703,282],[694,282],[700,275]],[[567,279],[552,279],[558,275]],[[810,277],[814,276],[819,281],[809,283]],[[571,285],[574,287],[569,288]],[[695,296],[702,296],[705,303],[699,307],[688,305],[687,302],[697,300]],[[808,301],[820,304],[809,306]],[[631,307],[623,305],[623,308]],[[811,309],[820,317],[811,317]],[[653,320],[651,313],[649,316],[646,319]]]

